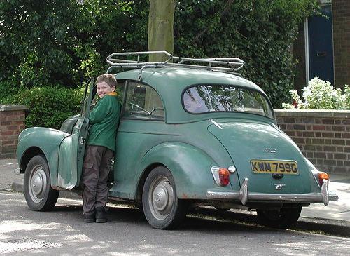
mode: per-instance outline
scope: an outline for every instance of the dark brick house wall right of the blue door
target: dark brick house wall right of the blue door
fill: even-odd
[[[350,84],[350,1],[332,0],[335,85]]]

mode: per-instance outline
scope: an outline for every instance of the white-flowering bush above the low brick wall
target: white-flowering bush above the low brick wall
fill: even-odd
[[[350,109],[350,88],[334,88],[330,82],[314,77],[309,85],[302,88],[302,98],[296,90],[290,90],[297,109]],[[283,103],[284,109],[295,109],[295,105]]]

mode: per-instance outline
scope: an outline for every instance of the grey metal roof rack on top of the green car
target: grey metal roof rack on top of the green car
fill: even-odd
[[[167,55],[167,60],[162,62],[144,62],[141,61],[142,56],[149,56],[152,54],[163,54]],[[123,56],[137,56],[137,60],[125,60]],[[106,58],[106,61],[111,65],[107,69],[107,74],[114,67],[118,68],[130,68],[130,69],[140,69],[139,80],[141,81],[142,71],[148,67],[187,67],[193,69],[206,69],[212,71],[223,71],[223,72],[235,72],[239,71],[246,62],[239,58],[186,58],[186,57],[176,57],[171,55],[165,50],[159,51],[144,51],[144,52],[130,52],[130,53],[112,53]],[[195,64],[188,64],[188,63]]]

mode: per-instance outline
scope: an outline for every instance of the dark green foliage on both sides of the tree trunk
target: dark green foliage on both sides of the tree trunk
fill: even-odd
[[[297,25],[316,2],[178,0],[174,55],[237,56],[246,61],[244,77],[281,107],[293,88]],[[149,0],[0,0],[0,99],[33,86],[77,88],[106,71],[109,54],[146,50],[149,7]]]

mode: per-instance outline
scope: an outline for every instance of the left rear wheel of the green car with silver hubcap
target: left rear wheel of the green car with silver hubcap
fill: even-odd
[[[142,205],[146,219],[152,227],[172,229],[186,217],[188,203],[177,198],[172,173],[160,166],[152,170],[146,178]]]

